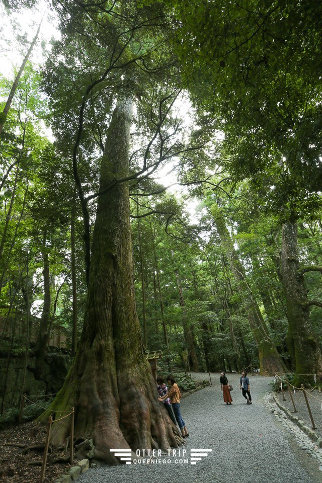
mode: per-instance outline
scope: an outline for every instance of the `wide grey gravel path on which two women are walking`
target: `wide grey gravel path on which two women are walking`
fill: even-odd
[[[196,379],[207,379],[194,373]],[[91,468],[79,483],[316,483],[322,472],[312,458],[302,454],[291,435],[268,412],[263,403],[270,378],[250,376],[253,405],[248,406],[239,390],[239,376],[229,375],[233,403],[223,403],[219,374],[212,386],[182,400],[181,410],[190,438],[183,447],[211,448],[195,466],[191,464],[131,464]],[[167,457],[168,459],[168,457]],[[173,458],[174,459],[174,458]],[[244,461],[244,462],[243,462]]]

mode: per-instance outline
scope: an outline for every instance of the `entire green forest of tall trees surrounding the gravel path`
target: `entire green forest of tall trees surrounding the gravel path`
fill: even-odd
[[[113,447],[177,445],[148,351],[168,371],[321,384],[321,3],[2,4],[21,57],[0,76],[0,349],[24,358],[17,407],[29,358],[41,381],[63,347],[50,409],[75,407],[75,434],[116,463]],[[25,34],[17,12],[40,10]]]

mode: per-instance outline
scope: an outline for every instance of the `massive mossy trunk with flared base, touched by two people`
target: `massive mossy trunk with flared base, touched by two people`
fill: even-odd
[[[128,175],[132,108],[132,96],[118,100],[107,132],[100,192]],[[51,409],[71,407],[75,407],[75,435],[93,438],[95,457],[106,462],[119,462],[110,448],[177,446],[143,351],[127,183],[116,184],[98,198],[84,329]],[[48,414],[50,410],[42,418]],[[69,435],[68,428],[69,418],[55,423],[53,443],[60,444]]]

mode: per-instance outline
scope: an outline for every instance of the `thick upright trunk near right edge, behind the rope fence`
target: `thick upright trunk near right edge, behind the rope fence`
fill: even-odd
[[[299,270],[297,252],[297,224],[284,223],[282,226],[282,276],[285,290],[290,335],[292,340],[295,383],[313,381],[313,375],[322,373],[322,355],[317,338],[312,332],[307,291],[303,274]],[[308,374],[308,376],[306,375]]]

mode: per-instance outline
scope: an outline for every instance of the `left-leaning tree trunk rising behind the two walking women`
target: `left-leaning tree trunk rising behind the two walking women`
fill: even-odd
[[[252,289],[247,281],[244,267],[241,265],[234,249],[224,217],[216,204],[212,205],[211,212],[226,257],[229,261],[230,269],[237,282],[238,290],[242,292],[244,296],[246,294],[245,306],[248,311],[250,327],[258,347],[261,374],[272,375],[274,374],[274,371],[286,372],[286,367],[269,337],[265,320],[263,319]]]

